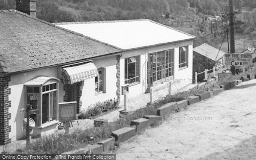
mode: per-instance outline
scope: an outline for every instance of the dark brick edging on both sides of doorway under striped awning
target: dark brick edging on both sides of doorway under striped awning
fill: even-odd
[[[74,84],[76,86],[76,102],[77,102],[77,108],[76,108],[76,113],[80,113],[81,111],[81,106],[82,106],[82,101],[81,101],[81,96],[82,96],[82,90],[81,90],[81,85],[82,82],[78,82]],[[67,89],[68,89],[69,85],[64,84],[64,102],[67,102]]]

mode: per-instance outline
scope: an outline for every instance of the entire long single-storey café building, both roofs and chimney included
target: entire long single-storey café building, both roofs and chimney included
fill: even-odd
[[[59,103],[76,101],[79,113],[120,102],[122,90],[136,96],[163,79],[192,79],[192,35],[151,20],[51,24],[35,18],[35,0],[17,2],[0,10],[2,145],[25,137],[27,104],[41,136],[58,131]]]

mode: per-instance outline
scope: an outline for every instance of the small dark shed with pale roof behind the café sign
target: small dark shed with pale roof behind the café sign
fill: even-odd
[[[208,59],[216,63],[224,63],[224,54],[225,52],[205,43],[193,49],[193,61],[206,61]]]

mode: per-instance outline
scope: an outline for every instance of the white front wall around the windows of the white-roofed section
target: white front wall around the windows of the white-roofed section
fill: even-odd
[[[121,86],[125,84],[125,58],[134,57],[140,55],[140,83],[130,84],[129,95],[136,96],[145,91],[148,88],[147,70],[148,70],[148,54],[154,52],[165,51],[174,49],[174,79],[182,79],[184,83],[192,83],[192,65],[193,65],[193,41],[181,41],[177,43],[159,44],[157,46],[133,49],[124,51],[124,54],[120,58],[120,83]],[[188,67],[179,70],[179,47],[188,46]],[[185,80],[184,80],[185,79]],[[121,101],[123,96],[121,96]]]

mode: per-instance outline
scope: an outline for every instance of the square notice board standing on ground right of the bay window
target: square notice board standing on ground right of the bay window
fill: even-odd
[[[59,103],[59,121],[65,122],[76,119],[77,102]]]

